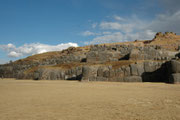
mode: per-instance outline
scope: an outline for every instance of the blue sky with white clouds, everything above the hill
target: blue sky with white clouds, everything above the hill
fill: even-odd
[[[179,0],[0,0],[0,63],[28,55],[180,33]],[[63,43],[63,44],[62,44]]]

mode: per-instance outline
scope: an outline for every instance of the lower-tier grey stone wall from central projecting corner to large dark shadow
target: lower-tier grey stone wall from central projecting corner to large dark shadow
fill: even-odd
[[[82,81],[166,82],[163,61],[145,61],[121,66],[83,66]]]

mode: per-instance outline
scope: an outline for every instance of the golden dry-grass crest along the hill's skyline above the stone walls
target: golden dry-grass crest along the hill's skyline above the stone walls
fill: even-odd
[[[147,46],[147,45],[156,45],[161,48],[168,49],[170,51],[179,50],[180,46],[180,35],[176,35],[173,32],[166,32],[165,34],[159,32],[155,35],[153,40],[135,40],[130,42],[121,42],[121,43],[108,43],[108,44],[100,44],[98,46],[113,46],[113,45],[134,45],[134,46]],[[51,59],[53,57],[60,57],[64,55],[68,55],[71,53],[84,53],[88,52],[92,46],[84,46],[84,47],[70,47],[63,51],[55,51],[55,52],[46,52],[42,54],[36,54],[33,56],[29,56],[25,59],[20,59],[15,61],[15,63],[20,62],[36,62],[36,61],[45,61],[46,59]]]

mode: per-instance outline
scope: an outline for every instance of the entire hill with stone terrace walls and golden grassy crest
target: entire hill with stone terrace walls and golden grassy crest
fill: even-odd
[[[152,40],[70,47],[0,66],[0,76],[119,82],[180,82],[180,36],[157,33]]]

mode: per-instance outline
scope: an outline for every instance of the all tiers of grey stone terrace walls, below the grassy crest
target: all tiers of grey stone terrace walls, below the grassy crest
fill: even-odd
[[[65,51],[67,52],[67,51]],[[160,46],[93,45],[88,52],[68,54],[43,61],[19,62],[0,66],[0,76],[17,79],[119,81],[119,82],[172,82],[177,83],[180,72],[179,51],[167,51]],[[115,67],[112,62],[134,61]],[[67,69],[54,65],[84,63]],[[106,64],[108,63],[108,64]],[[119,63],[120,64],[120,63]],[[44,67],[48,66],[48,67]],[[176,68],[179,66],[178,68]],[[31,70],[36,67],[36,69]],[[170,71],[169,69],[172,68]],[[27,72],[30,71],[30,72]],[[171,76],[171,77],[170,77]]]

